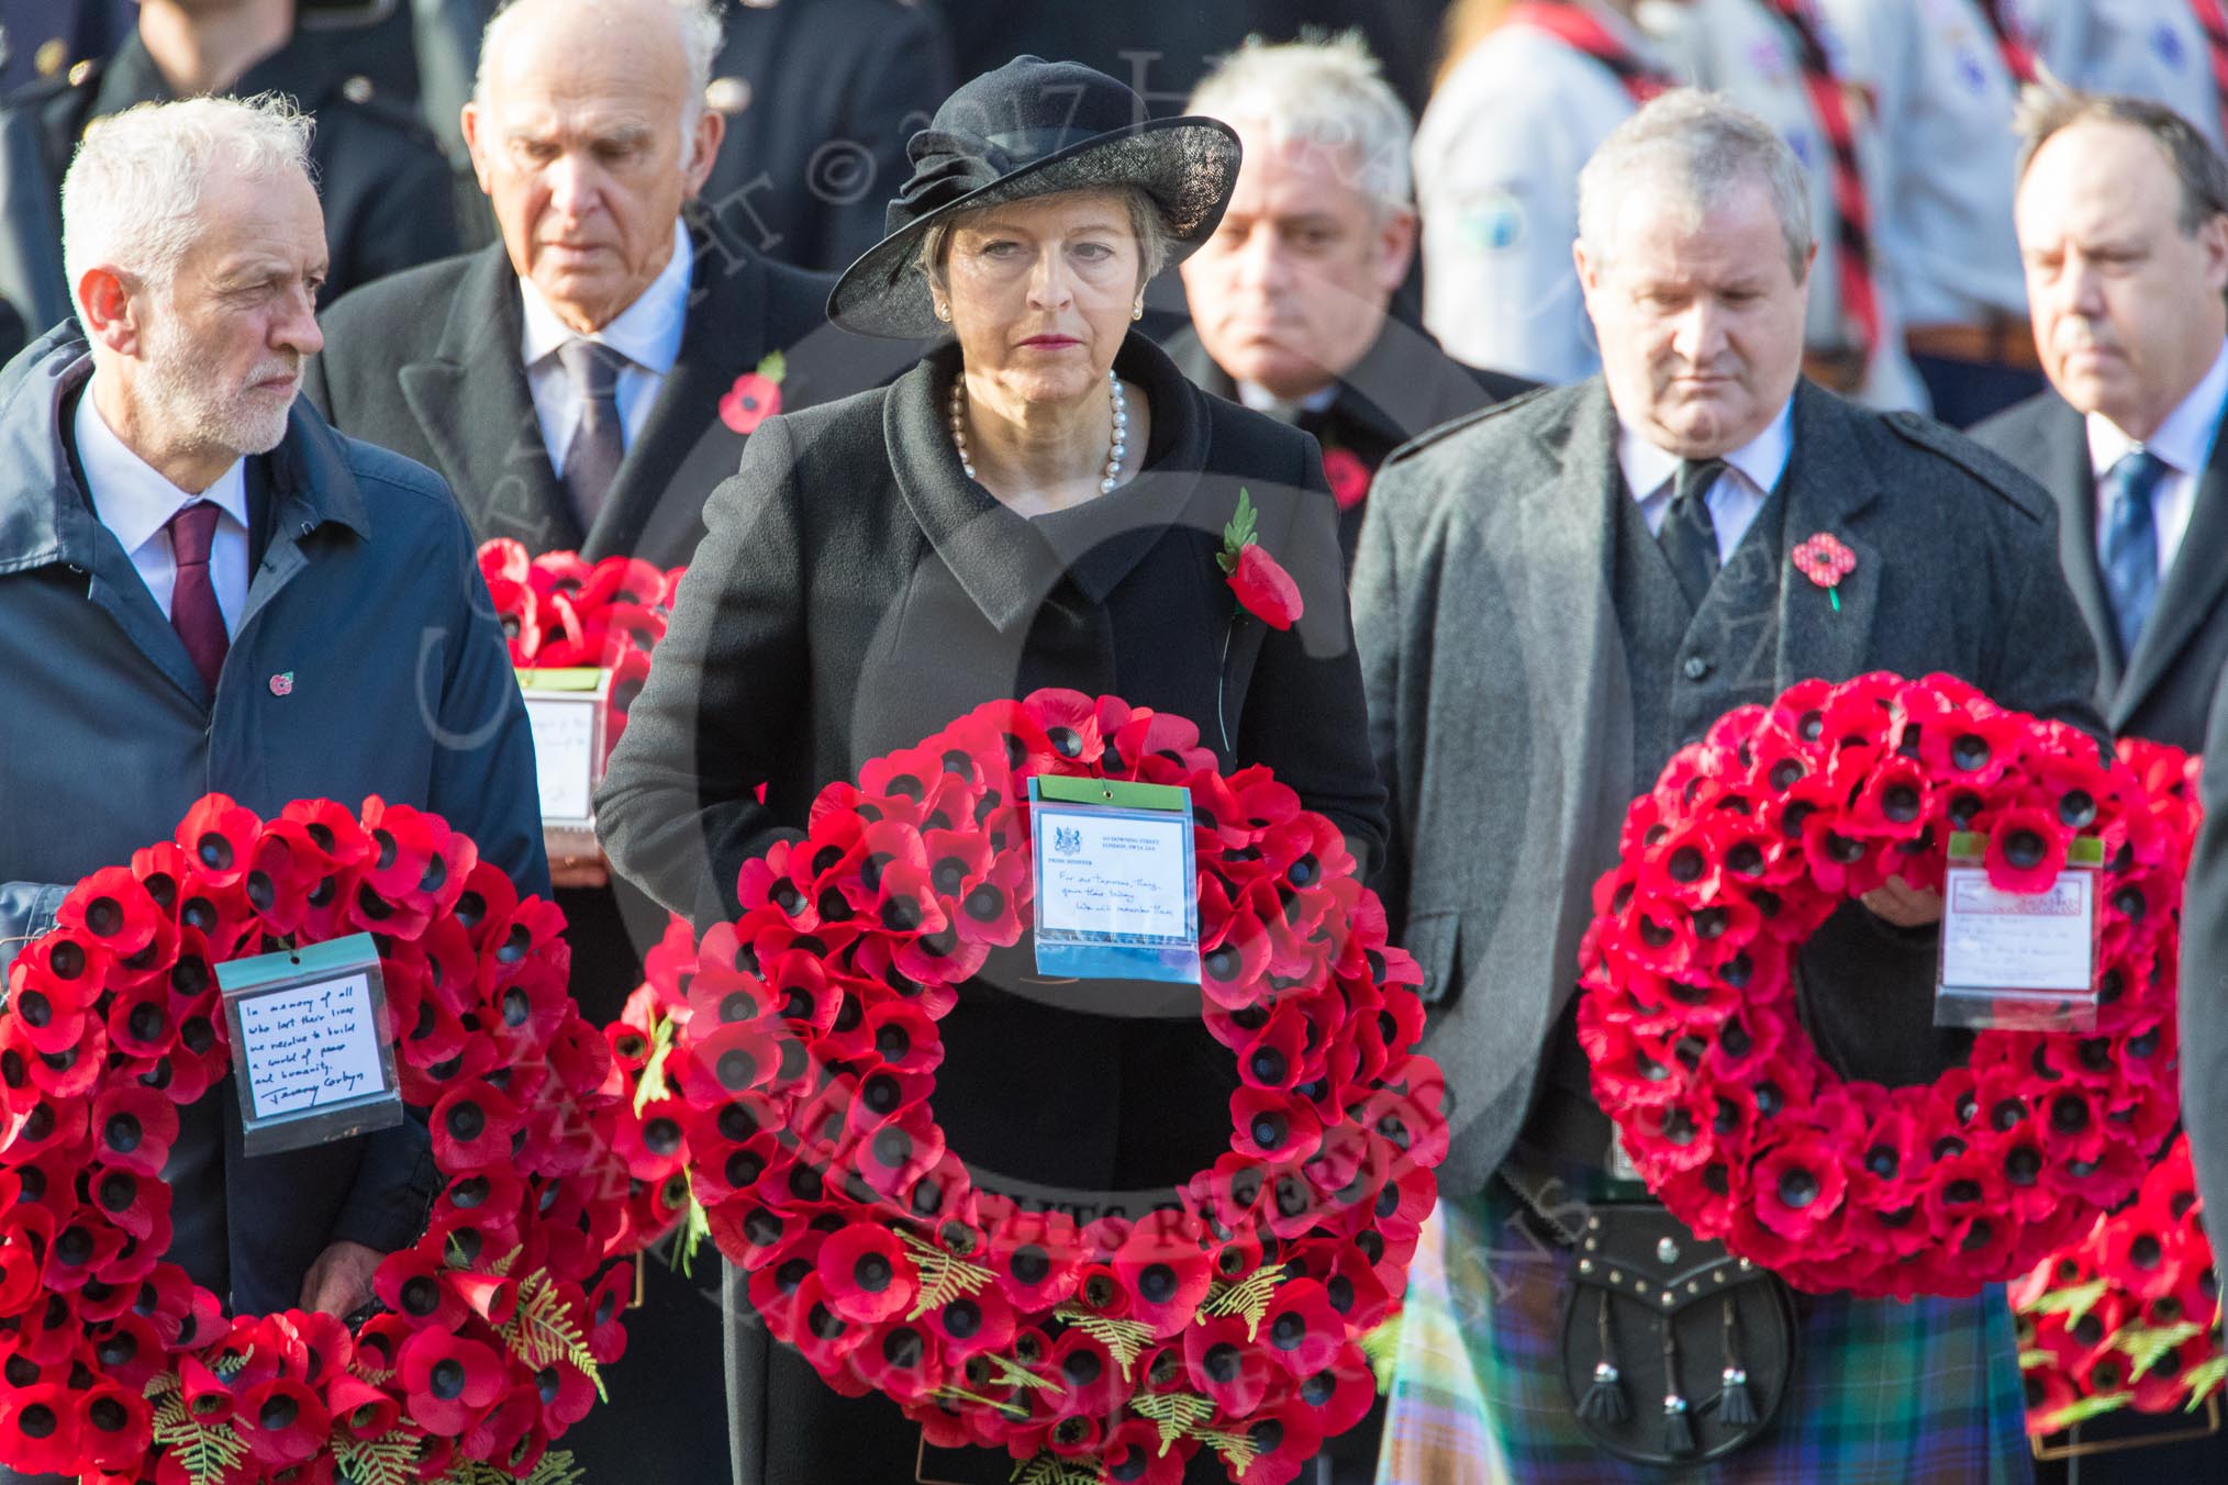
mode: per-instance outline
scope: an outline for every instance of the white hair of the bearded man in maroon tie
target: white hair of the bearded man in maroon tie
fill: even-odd
[[[62,176],[62,272],[118,267],[169,283],[203,223],[212,174],[272,180],[310,169],[310,118],[276,94],[143,102],[94,120]],[[85,305],[78,305],[85,314]]]

